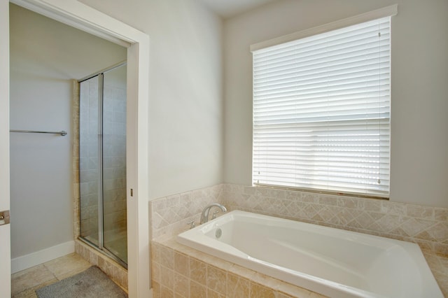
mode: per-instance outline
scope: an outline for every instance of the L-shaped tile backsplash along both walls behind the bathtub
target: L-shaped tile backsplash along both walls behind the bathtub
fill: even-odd
[[[150,202],[152,239],[169,239],[200,220],[202,208],[218,202],[316,225],[347,229],[418,243],[448,255],[448,209],[387,200],[221,184]]]

